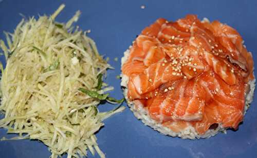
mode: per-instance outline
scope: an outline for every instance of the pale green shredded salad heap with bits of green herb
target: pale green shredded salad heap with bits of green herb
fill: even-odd
[[[0,127],[19,134],[12,140],[42,141],[50,157],[82,157],[87,149],[105,157],[94,133],[104,119],[125,107],[99,112],[97,105],[124,99],[106,94],[113,87],[102,78],[111,65],[87,32],[72,27],[81,12],[66,23],[54,21],[64,7],[50,17],[22,19],[13,34],[5,32],[7,45],[0,40],[7,61],[5,69],[1,64],[0,110],[5,117]]]

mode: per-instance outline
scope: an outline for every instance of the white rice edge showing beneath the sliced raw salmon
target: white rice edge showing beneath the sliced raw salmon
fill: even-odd
[[[130,54],[130,50],[126,50],[124,52],[124,56],[121,58],[121,66],[123,65],[123,63],[126,62],[126,60],[128,59],[129,54]],[[168,136],[172,136],[172,137],[180,137],[182,139],[210,138],[212,136],[215,136],[219,131],[226,133],[227,128],[223,128],[222,124],[219,124],[216,129],[207,130],[206,133],[202,134],[202,135],[198,134],[196,132],[196,130],[194,129],[194,127],[192,127],[192,126],[189,126],[189,127],[187,127],[186,129],[184,129],[180,132],[175,132],[172,129],[163,126],[162,124],[153,120],[150,117],[150,115],[148,114],[148,110],[145,110],[141,106],[138,106],[136,108],[135,105],[133,104],[133,102],[131,102],[127,98],[127,83],[128,83],[128,77],[126,75],[121,74],[121,86],[124,87],[123,88],[123,95],[126,99],[127,105],[133,111],[135,117],[137,119],[141,120],[144,123],[144,125],[150,126],[154,130],[157,130],[164,135],[168,135]],[[253,92],[254,92],[254,88],[255,88],[255,78],[253,80],[249,81],[248,84],[250,85],[250,90],[247,94],[245,94],[244,115],[246,114],[246,110],[249,108],[250,103],[253,100]]]

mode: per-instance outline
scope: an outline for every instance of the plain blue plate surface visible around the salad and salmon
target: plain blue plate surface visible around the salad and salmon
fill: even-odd
[[[245,40],[247,49],[257,52],[257,1],[12,1],[0,0],[0,38],[3,31],[13,32],[25,16],[51,14],[61,3],[66,4],[57,20],[66,21],[77,10],[82,11],[77,22],[82,29],[91,29],[89,34],[99,52],[110,57],[116,70],[109,70],[107,82],[115,87],[112,96],[122,98],[120,81],[120,58],[141,30],[157,18],[176,20],[186,14],[199,18],[218,19],[235,28]],[[144,5],[145,9],[141,9]],[[119,61],[114,61],[118,57]],[[3,61],[3,57],[1,58]],[[256,75],[255,75],[256,76]],[[254,95],[256,97],[256,93]],[[125,103],[123,103],[124,106]],[[98,133],[98,143],[107,157],[257,157],[257,107],[252,102],[244,123],[237,131],[228,130],[210,139],[181,140],[163,136],[138,121],[126,108],[104,121],[105,127]],[[101,105],[101,110],[113,105]],[[0,137],[13,137],[0,129]],[[38,141],[2,141],[0,157],[49,157],[47,147]],[[89,153],[88,157],[94,157]],[[96,155],[95,157],[99,157]]]

